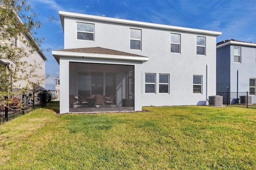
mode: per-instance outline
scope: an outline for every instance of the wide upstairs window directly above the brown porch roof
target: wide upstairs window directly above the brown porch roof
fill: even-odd
[[[94,24],[76,23],[78,40],[94,41]]]

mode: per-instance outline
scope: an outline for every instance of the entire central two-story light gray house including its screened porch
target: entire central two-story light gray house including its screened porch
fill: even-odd
[[[220,32],[59,12],[60,113],[206,105]],[[102,100],[102,96],[105,98]]]

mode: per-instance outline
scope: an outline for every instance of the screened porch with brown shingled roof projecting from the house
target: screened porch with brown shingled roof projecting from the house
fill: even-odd
[[[148,57],[88,47],[52,51],[60,64],[60,113],[140,111]]]

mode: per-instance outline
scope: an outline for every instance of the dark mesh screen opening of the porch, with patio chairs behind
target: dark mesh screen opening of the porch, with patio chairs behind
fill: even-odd
[[[134,111],[134,65],[70,62],[70,112]]]

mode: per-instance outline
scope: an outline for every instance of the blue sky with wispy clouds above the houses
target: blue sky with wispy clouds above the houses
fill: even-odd
[[[43,23],[37,30],[38,37],[45,38],[42,49],[64,48],[59,10],[222,32],[216,42],[256,42],[256,0],[33,0],[33,5]],[[51,16],[56,20],[48,22]],[[46,89],[55,89],[59,65],[52,51],[44,53],[50,75]]]

